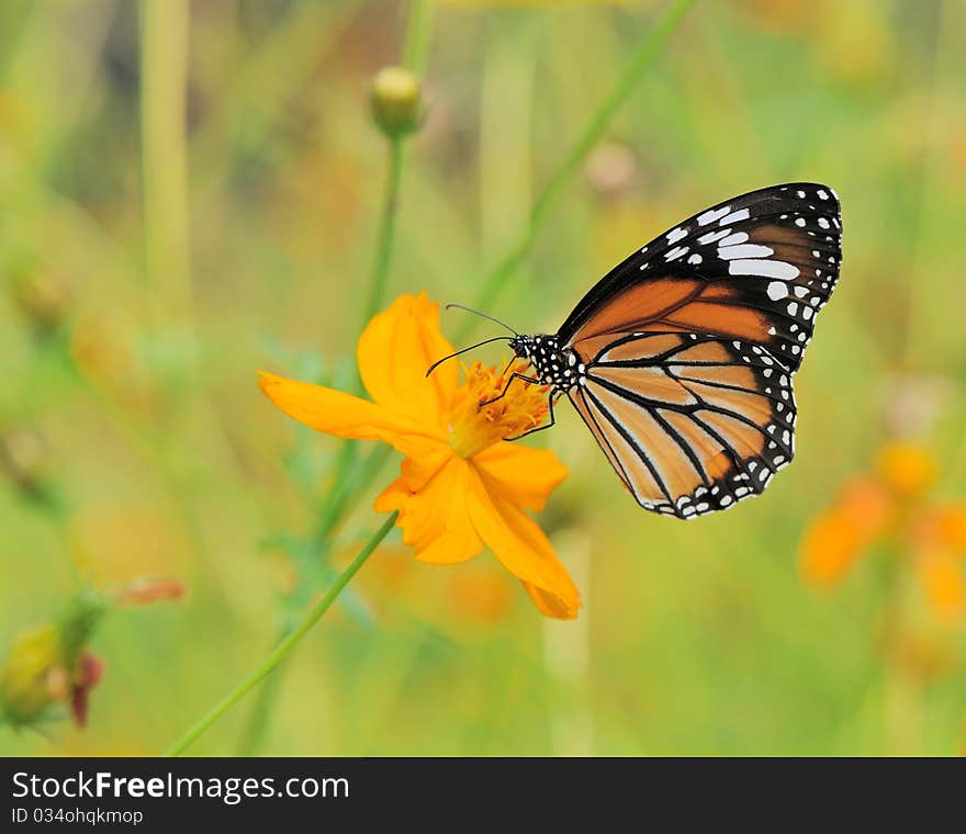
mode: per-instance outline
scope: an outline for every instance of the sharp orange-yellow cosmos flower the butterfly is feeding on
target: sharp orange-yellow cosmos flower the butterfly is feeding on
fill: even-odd
[[[525,510],[540,510],[566,477],[549,451],[503,438],[539,426],[546,392],[475,363],[426,370],[452,347],[439,330],[439,305],[403,295],[359,339],[358,363],[372,401],[261,374],[261,390],[282,412],[318,431],[381,440],[405,457],[400,477],[375,500],[398,510],[403,541],[435,564],[464,562],[488,546],[548,617],[576,617],[580,595],[547,537]]]

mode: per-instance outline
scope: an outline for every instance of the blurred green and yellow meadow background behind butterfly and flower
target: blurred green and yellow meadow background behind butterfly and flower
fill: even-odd
[[[433,5],[389,297],[472,303],[661,5]],[[0,729],[0,752],[160,752],[269,651],[293,585],[325,585],[304,541],[340,444],[282,417],[254,372],[351,381],[387,157],[368,89],[401,60],[406,13],[0,3],[0,436],[18,450],[0,485],[0,652],[80,577],[188,588],[104,622],[86,730]],[[884,554],[825,590],[797,554],[890,437],[934,455],[936,495],[966,486],[964,37],[954,0],[698,0],[488,312],[552,331],[693,212],[828,182],[844,266],[796,377],[795,464],[684,525],[640,510],[562,409],[527,442],[572,469],[540,521],[579,620],[544,621],[488,554],[423,565],[395,536],[269,695],[191,752],[961,752],[962,621],[931,615],[901,554],[901,590]],[[395,467],[324,560],[380,523],[371,496]],[[31,498],[36,482],[53,504]]]

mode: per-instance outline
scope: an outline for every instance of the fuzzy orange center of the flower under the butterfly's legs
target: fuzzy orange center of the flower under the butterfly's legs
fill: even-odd
[[[474,362],[467,381],[457,390],[449,420],[449,444],[460,458],[472,458],[494,443],[514,438],[543,422],[549,413],[547,387],[514,380],[506,394],[503,390],[510,374],[523,372],[524,363],[515,364],[506,374],[495,368]],[[499,397],[488,405],[488,399]]]

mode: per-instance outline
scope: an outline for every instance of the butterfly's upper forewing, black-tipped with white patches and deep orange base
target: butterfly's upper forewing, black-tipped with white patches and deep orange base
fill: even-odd
[[[798,182],[719,203],[605,275],[558,333],[589,358],[642,330],[754,341],[791,371],[839,278],[839,200]]]

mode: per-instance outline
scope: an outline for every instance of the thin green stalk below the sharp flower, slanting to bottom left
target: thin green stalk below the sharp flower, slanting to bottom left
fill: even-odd
[[[385,539],[389,531],[392,530],[397,516],[398,511],[390,514],[389,518],[385,519],[379,530],[375,531],[373,537],[366,543],[362,550],[359,551],[351,564],[339,575],[339,578],[336,579],[336,583],[328,589],[328,593],[326,593],[326,595],[313,606],[295,630],[282,640],[271,654],[269,654],[269,656],[266,657],[258,667],[248,675],[248,677],[235,687],[235,689],[228,692],[228,695],[222,698],[222,700],[212,707],[188,730],[188,732],[168,747],[165,752],[166,756],[180,756],[195,740],[198,740],[199,736],[209,730],[216,721],[223,718],[232,707],[238,703],[238,701],[268,677],[268,675],[270,675],[279,664],[291,654],[292,650],[302,642],[302,639],[312,631],[315,623],[317,623],[325,612],[332,608],[333,602],[338,599],[339,594],[345,590],[346,586],[352,581],[352,577],[359,572],[359,568],[366,564],[366,561],[372,555],[372,552],[379,546],[382,540]]]

